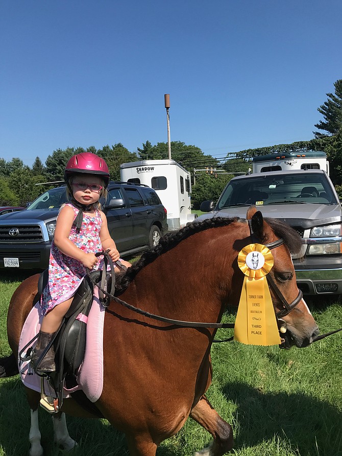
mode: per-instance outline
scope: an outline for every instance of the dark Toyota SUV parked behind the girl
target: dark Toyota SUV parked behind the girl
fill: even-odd
[[[65,186],[45,191],[25,210],[0,218],[0,268],[45,269]],[[125,257],[158,244],[167,230],[166,209],[155,190],[110,182],[102,201],[110,235]]]

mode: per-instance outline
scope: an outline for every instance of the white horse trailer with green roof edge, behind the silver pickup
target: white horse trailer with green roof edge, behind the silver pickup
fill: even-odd
[[[323,170],[329,175],[327,155],[322,151],[295,151],[253,157],[253,173],[290,170]]]

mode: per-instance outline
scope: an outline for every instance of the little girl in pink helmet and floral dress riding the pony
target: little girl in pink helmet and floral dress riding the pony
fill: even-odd
[[[37,374],[56,370],[53,346],[38,365],[44,349],[60,327],[71,301],[86,275],[86,268],[99,268],[96,252],[109,250],[113,261],[120,257],[111,238],[106,215],[99,200],[107,196],[109,170],[105,160],[89,152],[74,155],[65,167],[64,180],[69,202],[62,206],[51,245],[48,283],[40,306],[43,319],[32,364]],[[121,260],[125,266],[131,263]],[[118,271],[118,268],[115,268]]]

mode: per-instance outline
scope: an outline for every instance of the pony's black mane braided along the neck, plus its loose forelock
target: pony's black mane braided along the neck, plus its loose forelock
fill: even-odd
[[[234,217],[231,219],[225,217],[213,217],[211,219],[205,219],[201,222],[197,222],[195,220],[192,223],[188,223],[184,228],[181,228],[179,231],[166,233],[160,239],[159,244],[157,246],[149,250],[146,250],[141,255],[141,258],[136,263],[134,263],[134,265],[131,268],[128,268],[128,270],[124,274],[119,274],[116,276],[115,295],[118,296],[121,293],[123,293],[142,268],[152,263],[152,261],[154,261],[158,256],[176,247],[181,241],[183,241],[187,237],[192,236],[193,234],[198,233],[200,231],[207,230],[209,228],[228,226],[231,223],[236,222],[238,220],[240,220],[241,222],[246,221],[246,219],[239,219],[238,217]],[[264,220],[271,226],[271,228],[278,237],[284,239],[284,243],[291,253],[297,253],[300,250],[302,241],[297,231],[290,228],[288,225],[285,225],[284,223],[280,222],[279,220],[270,218],[264,218]],[[263,239],[260,239],[260,241],[262,242]]]

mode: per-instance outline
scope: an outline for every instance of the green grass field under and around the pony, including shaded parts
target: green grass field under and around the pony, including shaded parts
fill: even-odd
[[[10,353],[6,315],[10,298],[28,274],[0,280],[0,356]],[[340,303],[309,303],[322,332],[342,327]],[[234,321],[234,311],[224,320]],[[227,333],[221,330],[218,337]],[[342,332],[304,349],[214,344],[214,378],[208,397],[232,424],[238,456],[342,456]],[[132,380],[131,380],[132,381]],[[63,454],[52,442],[52,420],[39,411],[46,456]],[[69,454],[128,454],[125,438],[106,420],[67,417],[70,436],[80,446]],[[18,376],[0,379],[0,456],[28,452],[30,411]],[[188,419],[159,447],[163,456],[189,456],[211,436]]]

